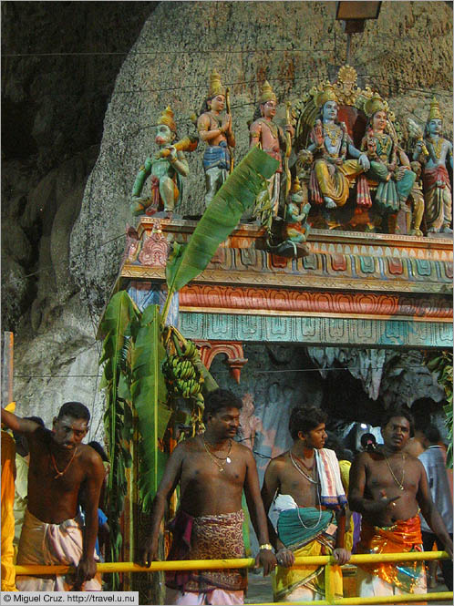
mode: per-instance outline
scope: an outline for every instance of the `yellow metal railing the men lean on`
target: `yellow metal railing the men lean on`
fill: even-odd
[[[348,563],[351,564],[370,564],[372,562],[399,562],[399,561],[418,561],[418,560],[444,560],[449,555],[446,551],[412,551],[407,553],[381,553],[381,554],[361,554],[351,557]],[[338,598],[335,599],[332,584],[332,567],[335,566],[335,559],[332,556],[311,556],[305,558],[295,558],[294,568],[299,566],[325,566],[325,600],[311,601],[311,604],[397,604],[413,601],[452,601],[452,591],[437,591],[433,593],[408,593],[403,595],[392,595],[386,597],[373,598]],[[107,562],[98,564],[97,570],[103,574],[112,572],[158,572],[160,570],[212,570],[228,568],[253,568],[255,560],[253,558],[241,558],[236,560],[181,560],[181,561],[156,561],[149,567],[139,566],[132,562]],[[15,566],[15,574],[28,574],[39,576],[43,574],[67,574],[74,569],[70,566]],[[295,604],[298,602],[279,602],[280,604]],[[304,602],[301,602],[304,603]],[[263,603],[257,606],[268,606]],[[271,606],[271,605],[270,605]]]

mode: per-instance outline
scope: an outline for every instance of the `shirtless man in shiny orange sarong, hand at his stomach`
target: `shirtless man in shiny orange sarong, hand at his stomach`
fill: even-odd
[[[408,408],[388,410],[383,446],[359,453],[353,462],[348,501],[362,514],[358,553],[422,551],[420,511],[452,558],[452,539],[430,496],[424,467],[405,452],[412,432]],[[427,591],[422,561],[358,564],[357,582],[360,597]]]

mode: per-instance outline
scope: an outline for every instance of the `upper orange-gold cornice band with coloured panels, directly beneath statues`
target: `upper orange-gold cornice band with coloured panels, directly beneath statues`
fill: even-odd
[[[165,254],[151,249],[170,236],[188,241],[195,221],[142,218],[143,251],[124,263],[120,279],[165,279]],[[158,231],[153,231],[157,225]],[[452,241],[389,234],[313,230],[311,254],[292,260],[260,250],[263,228],[240,225],[219,247],[196,283],[263,288],[447,294],[452,289]],[[144,254],[145,249],[150,249]],[[140,262],[141,261],[141,262]]]

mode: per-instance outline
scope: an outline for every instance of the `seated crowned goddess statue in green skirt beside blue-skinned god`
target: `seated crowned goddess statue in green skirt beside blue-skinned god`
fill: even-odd
[[[398,165],[397,139],[385,132],[387,109],[383,99],[375,93],[364,108],[369,119],[361,149],[367,151],[370,160],[366,178],[377,182],[375,207],[386,214],[397,213],[408,199],[416,175],[409,166]]]

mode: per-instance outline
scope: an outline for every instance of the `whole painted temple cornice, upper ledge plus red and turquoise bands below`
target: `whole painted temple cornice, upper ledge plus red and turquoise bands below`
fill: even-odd
[[[168,241],[188,241],[196,224],[142,217],[116,289],[160,300]],[[181,289],[182,334],[211,344],[452,346],[452,241],[313,230],[308,244],[302,259],[277,257],[263,250],[262,228],[239,225]]]

